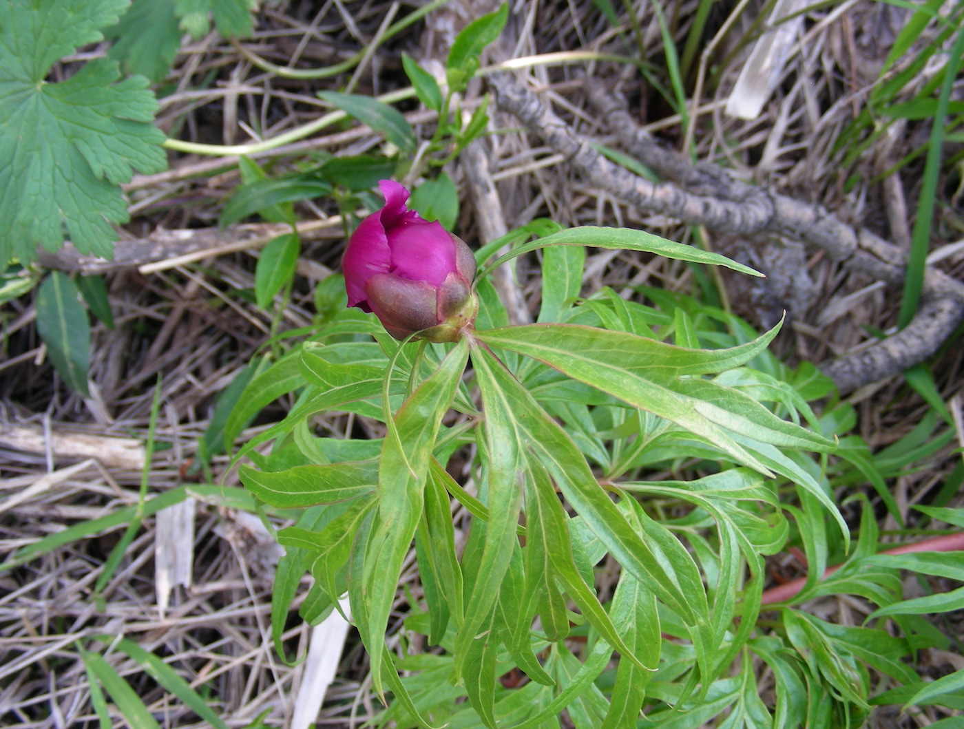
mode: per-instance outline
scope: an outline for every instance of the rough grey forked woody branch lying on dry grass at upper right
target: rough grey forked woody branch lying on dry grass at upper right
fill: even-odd
[[[904,256],[897,246],[868,229],[847,225],[819,205],[742,183],[710,164],[688,164],[641,131],[623,105],[597,83],[586,84],[587,93],[622,144],[672,181],[656,184],[610,162],[515,78],[501,74],[491,77],[490,83],[502,111],[522,121],[594,185],[642,212],[730,234],[782,235],[826,251],[855,273],[888,284],[903,281]],[[924,361],[962,318],[964,284],[928,268],[920,308],[907,327],[866,349],[826,362],[821,369],[841,392],[853,392]]]

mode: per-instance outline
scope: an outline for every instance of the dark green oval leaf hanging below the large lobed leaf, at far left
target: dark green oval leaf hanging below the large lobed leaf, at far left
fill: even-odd
[[[37,292],[37,331],[67,387],[88,396],[91,324],[77,286],[60,271],[51,271]]]

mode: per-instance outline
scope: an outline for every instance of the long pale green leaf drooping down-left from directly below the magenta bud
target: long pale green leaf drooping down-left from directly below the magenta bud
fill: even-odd
[[[463,340],[442,365],[405,401],[394,417],[394,433],[382,446],[379,464],[378,520],[369,537],[362,568],[362,605],[352,611],[367,614],[360,632],[371,660],[374,688],[382,692],[382,656],[388,613],[395,597],[402,562],[422,517],[425,479],[442,416],[451,405],[469,359]]]

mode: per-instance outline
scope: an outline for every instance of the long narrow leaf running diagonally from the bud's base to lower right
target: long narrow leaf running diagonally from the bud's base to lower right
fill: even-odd
[[[660,599],[694,629],[694,640],[708,639],[709,606],[699,574],[694,575],[694,570],[688,565],[683,569],[681,565],[667,563],[662,545],[657,545],[656,549],[659,551],[654,552],[649,540],[641,538],[629,526],[626,517],[603,491],[589,469],[589,464],[566,431],[549,418],[532,395],[495,361],[492,355],[481,349],[476,352],[479,356],[473,356],[473,363],[485,401],[487,423],[496,417],[496,407],[501,407],[505,414],[497,417],[506,423],[512,443],[524,443],[532,455],[546,466],[563,496],[576,508],[610,554],[647,588],[656,592]],[[494,432],[503,429],[496,428],[495,425],[492,428]],[[506,463],[506,458],[512,458],[513,453],[511,448],[503,447],[491,457],[491,471],[495,474],[496,467]],[[513,468],[518,463],[517,460],[508,462],[513,464]],[[491,492],[492,484],[490,512],[494,509]],[[511,521],[512,527],[515,527],[515,517]],[[490,529],[494,523],[497,524],[495,519],[490,519]],[[682,549],[682,546],[680,548]],[[505,555],[505,559],[508,560],[508,555]],[[689,558],[689,565],[691,564],[692,559]],[[467,624],[468,612],[469,608]]]

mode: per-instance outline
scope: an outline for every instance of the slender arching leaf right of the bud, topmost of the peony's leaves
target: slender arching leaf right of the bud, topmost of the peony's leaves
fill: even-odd
[[[734,271],[745,273],[749,276],[763,276],[759,271],[755,271],[749,266],[744,266],[742,263],[737,263],[728,257],[710,253],[695,246],[687,246],[684,243],[667,240],[645,230],[597,228],[594,226],[559,230],[539,240],[525,243],[518,248],[514,248],[504,256],[496,258],[494,262],[486,267],[480,276],[484,276],[511,258],[522,256],[529,251],[535,251],[537,248],[545,248],[546,246],[590,246],[609,250],[644,251],[662,257],[686,260],[691,263],[726,266],[727,268],[732,268]]]

